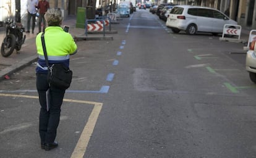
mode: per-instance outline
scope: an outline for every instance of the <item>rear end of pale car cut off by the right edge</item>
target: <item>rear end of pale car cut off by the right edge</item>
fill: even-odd
[[[250,43],[249,51],[247,51],[245,68],[249,72],[250,80],[256,83],[256,41]]]

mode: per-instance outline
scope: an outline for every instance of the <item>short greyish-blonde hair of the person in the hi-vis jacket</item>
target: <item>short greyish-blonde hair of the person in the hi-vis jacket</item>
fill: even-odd
[[[62,13],[59,8],[48,9],[45,13],[45,20],[48,26],[60,26],[62,22]]]

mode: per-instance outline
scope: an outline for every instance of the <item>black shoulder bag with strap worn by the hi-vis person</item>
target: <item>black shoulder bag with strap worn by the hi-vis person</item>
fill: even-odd
[[[58,63],[49,66],[46,47],[45,47],[45,34],[41,35],[41,41],[43,46],[43,54],[45,56],[45,62],[48,67],[48,82],[50,86],[55,86],[59,89],[67,89],[72,81],[72,70],[65,65]]]

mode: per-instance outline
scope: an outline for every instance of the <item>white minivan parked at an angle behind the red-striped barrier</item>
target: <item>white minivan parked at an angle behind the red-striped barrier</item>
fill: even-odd
[[[210,32],[218,35],[218,33],[223,33],[225,24],[237,25],[237,22],[229,19],[220,10],[198,6],[175,6],[166,20],[166,27],[171,28],[174,33],[182,30],[189,35],[197,32]]]

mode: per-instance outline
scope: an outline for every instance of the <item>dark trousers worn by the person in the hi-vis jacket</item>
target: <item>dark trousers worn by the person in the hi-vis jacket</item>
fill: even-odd
[[[61,116],[61,104],[65,90],[50,86],[47,81],[47,74],[36,73],[36,89],[41,105],[39,116],[39,134],[41,144],[53,143],[56,138],[59,117]],[[49,89],[49,110],[46,107],[46,91]]]

